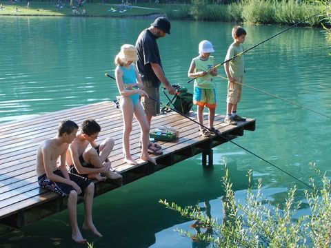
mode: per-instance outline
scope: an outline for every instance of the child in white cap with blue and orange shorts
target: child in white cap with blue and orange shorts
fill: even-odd
[[[192,59],[190,68],[188,69],[188,77],[196,78],[194,80],[193,103],[197,105],[198,122],[200,124],[199,133],[202,136],[210,136],[210,131],[203,127],[203,110],[208,107],[209,129],[214,134],[221,134],[219,130],[214,128],[214,117],[216,110],[216,91],[213,78],[217,76],[217,70],[214,68],[214,56],[210,53],[214,52],[210,41],[201,41],[199,43],[199,56]]]

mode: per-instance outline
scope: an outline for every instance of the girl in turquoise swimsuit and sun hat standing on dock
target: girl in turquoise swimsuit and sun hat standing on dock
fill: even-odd
[[[132,131],[133,115],[136,117],[141,130],[141,156],[143,161],[150,161],[156,165],[154,158],[148,155],[148,150],[154,154],[162,154],[161,150],[153,149],[150,145],[149,134],[150,126],[146,120],[146,114],[143,112],[143,107],[140,103],[140,97],[148,97],[148,94],[143,91],[143,84],[139,75],[137,65],[133,64],[137,61],[137,48],[134,45],[125,44],[121,46],[121,51],[115,58],[115,77],[119,94],[121,94],[120,106],[123,114],[123,152],[124,161],[129,165],[137,165],[130,154],[130,133]]]

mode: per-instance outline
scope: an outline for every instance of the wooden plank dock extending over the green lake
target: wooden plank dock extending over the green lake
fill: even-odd
[[[196,119],[194,112],[190,118]],[[214,126],[221,131],[220,136],[202,137],[196,123],[177,113],[161,114],[152,120],[152,128],[159,125],[177,127],[180,138],[172,142],[158,142],[163,147],[163,155],[154,156],[157,166],[140,161],[139,165],[123,163],[121,112],[114,103],[105,101],[70,110],[62,110],[24,121],[0,124],[0,223],[10,227],[21,227],[57,211],[66,209],[66,198],[41,189],[35,173],[36,152],[39,143],[57,134],[57,125],[63,119],[75,121],[78,125],[86,118],[94,118],[101,125],[99,141],[114,138],[114,150],[110,161],[117,172],[123,175],[123,184],[147,176],[159,169],[203,153],[203,163],[209,156],[212,162],[212,147],[242,136],[244,130],[255,130],[255,120],[248,118],[239,125],[223,123],[224,116],[215,116]],[[205,125],[208,116],[205,115]],[[131,135],[132,154],[139,158],[139,125],[134,121]],[[96,195],[118,187],[112,183],[97,183]]]

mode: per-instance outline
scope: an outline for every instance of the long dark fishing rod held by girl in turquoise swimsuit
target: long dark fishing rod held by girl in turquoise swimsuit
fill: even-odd
[[[105,73],[105,76],[108,76],[110,79],[114,79],[114,77],[110,76],[108,73]],[[178,110],[169,107],[168,105],[165,105],[164,103],[161,103],[160,101],[158,101],[157,99],[154,99],[152,96],[148,96],[149,99],[152,99],[154,102],[159,103],[160,105],[163,105],[163,107],[168,108],[169,110],[172,110],[173,112],[176,112],[177,114],[180,114],[181,116],[188,118],[190,121],[197,123],[198,125],[201,125],[199,122],[195,121],[194,119],[190,118],[189,116],[185,116],[185,114],[182,114],[181,112],[179,112]],[[208,130],[209,132],[212,132],[212,130],[209,127],[206,127],[205,125],[201,125],[203,128],[205,128],[206,130]],[[212,132],[214,133],[214,132]],[[230,138],[227,138],[225,136],[223,136],[222,134],[215,134],[223,139],[225,139],[225,141],[228,141],[230,143],[232,143],[233,145],[237,145],[237,147],[240,147],[241,149],[245,150],[246,152],[248,152],[249,154],[252,154],[253,156],[256,156],[257,158],[260,158],[261,161],[264,161],[265,163],[268,163],[269,165],[272,165],[273,167],[279,169],[281,172],[287,174],[288,176],[294,178],[295,180],[299,181],[300,183],[302,183],[303,185],[310,187],[310,189],[314,189],[312,186],[308,185],[307,183],[303,182],[303,180],[300,180],[299,178],[297,178],[296,176],[292,176],[290,173],[286,172],[285,170],[281,169],[280,167],[278,167],[277,165],[274,165],[273,163],[271,163],[270,161],[267,161],[265,158],[262,158],[261,156],[255,154],[254,152],[251,152],[249,149],[233,142],[230,140]]]

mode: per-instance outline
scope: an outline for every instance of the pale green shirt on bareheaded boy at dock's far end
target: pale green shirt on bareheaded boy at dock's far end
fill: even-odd
[[[234,43],[232,43],[228,49],[228,52],[225,56],[225,61],[227,61],[228,59],[233,58],[234,56],[236,56],[237,54],[243,52],[243,45],[239,44],[234,45]],[[237,56],[237,58],[232,59],[232,61],[229,61],[229,70],[230,70],[230,74],[232,77],[239,77],[239,76],[243,76],[243,74],[245,73],[245,65],[243,63],[243,54],[241,56]]]

